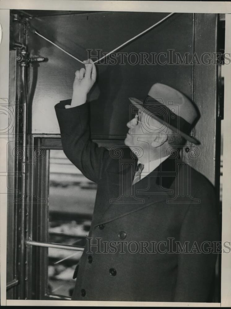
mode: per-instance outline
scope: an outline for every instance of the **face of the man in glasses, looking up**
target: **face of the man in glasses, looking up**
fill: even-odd
[[[145,111],[137,112],[135,117],[127,123],[129,128],[124,144],[131,150],[141,147],[144,151],[150,149],[153,140],[159,136],[162,125],[150,118]]]

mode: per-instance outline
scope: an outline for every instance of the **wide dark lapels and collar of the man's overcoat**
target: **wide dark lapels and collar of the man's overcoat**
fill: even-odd
[[[114,161],[107,171],[109,203],[95,225],[111,222],[142,208],[169,199],[176,178],[174,159],[166,159],[149,175],[132,185],[137,159]]]

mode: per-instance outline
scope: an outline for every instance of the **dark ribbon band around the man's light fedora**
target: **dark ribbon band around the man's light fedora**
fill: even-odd
[[[162,124],[189,134],[192,125],[181,116],[177,115],[176,105],[165,105],[148,95],[142,105],[150,114],[162,121]]]

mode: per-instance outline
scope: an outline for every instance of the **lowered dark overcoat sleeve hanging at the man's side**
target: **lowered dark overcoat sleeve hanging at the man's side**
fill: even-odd
[[[195,197],[200,203],[189,205],[181,226],[181,248],[188,242],[191,253],[177,253],[175,302],[207,302],[215,272],[220,237],[213,187],[203,187]]]

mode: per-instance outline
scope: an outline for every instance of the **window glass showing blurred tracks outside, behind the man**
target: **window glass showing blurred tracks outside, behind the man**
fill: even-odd
[[[85,246],[96,196],[96,184],[88,180],[63,153],[50,150],[49,243]],[[73,273],[82,251],[48,249],[47,292],[71,296]]]

